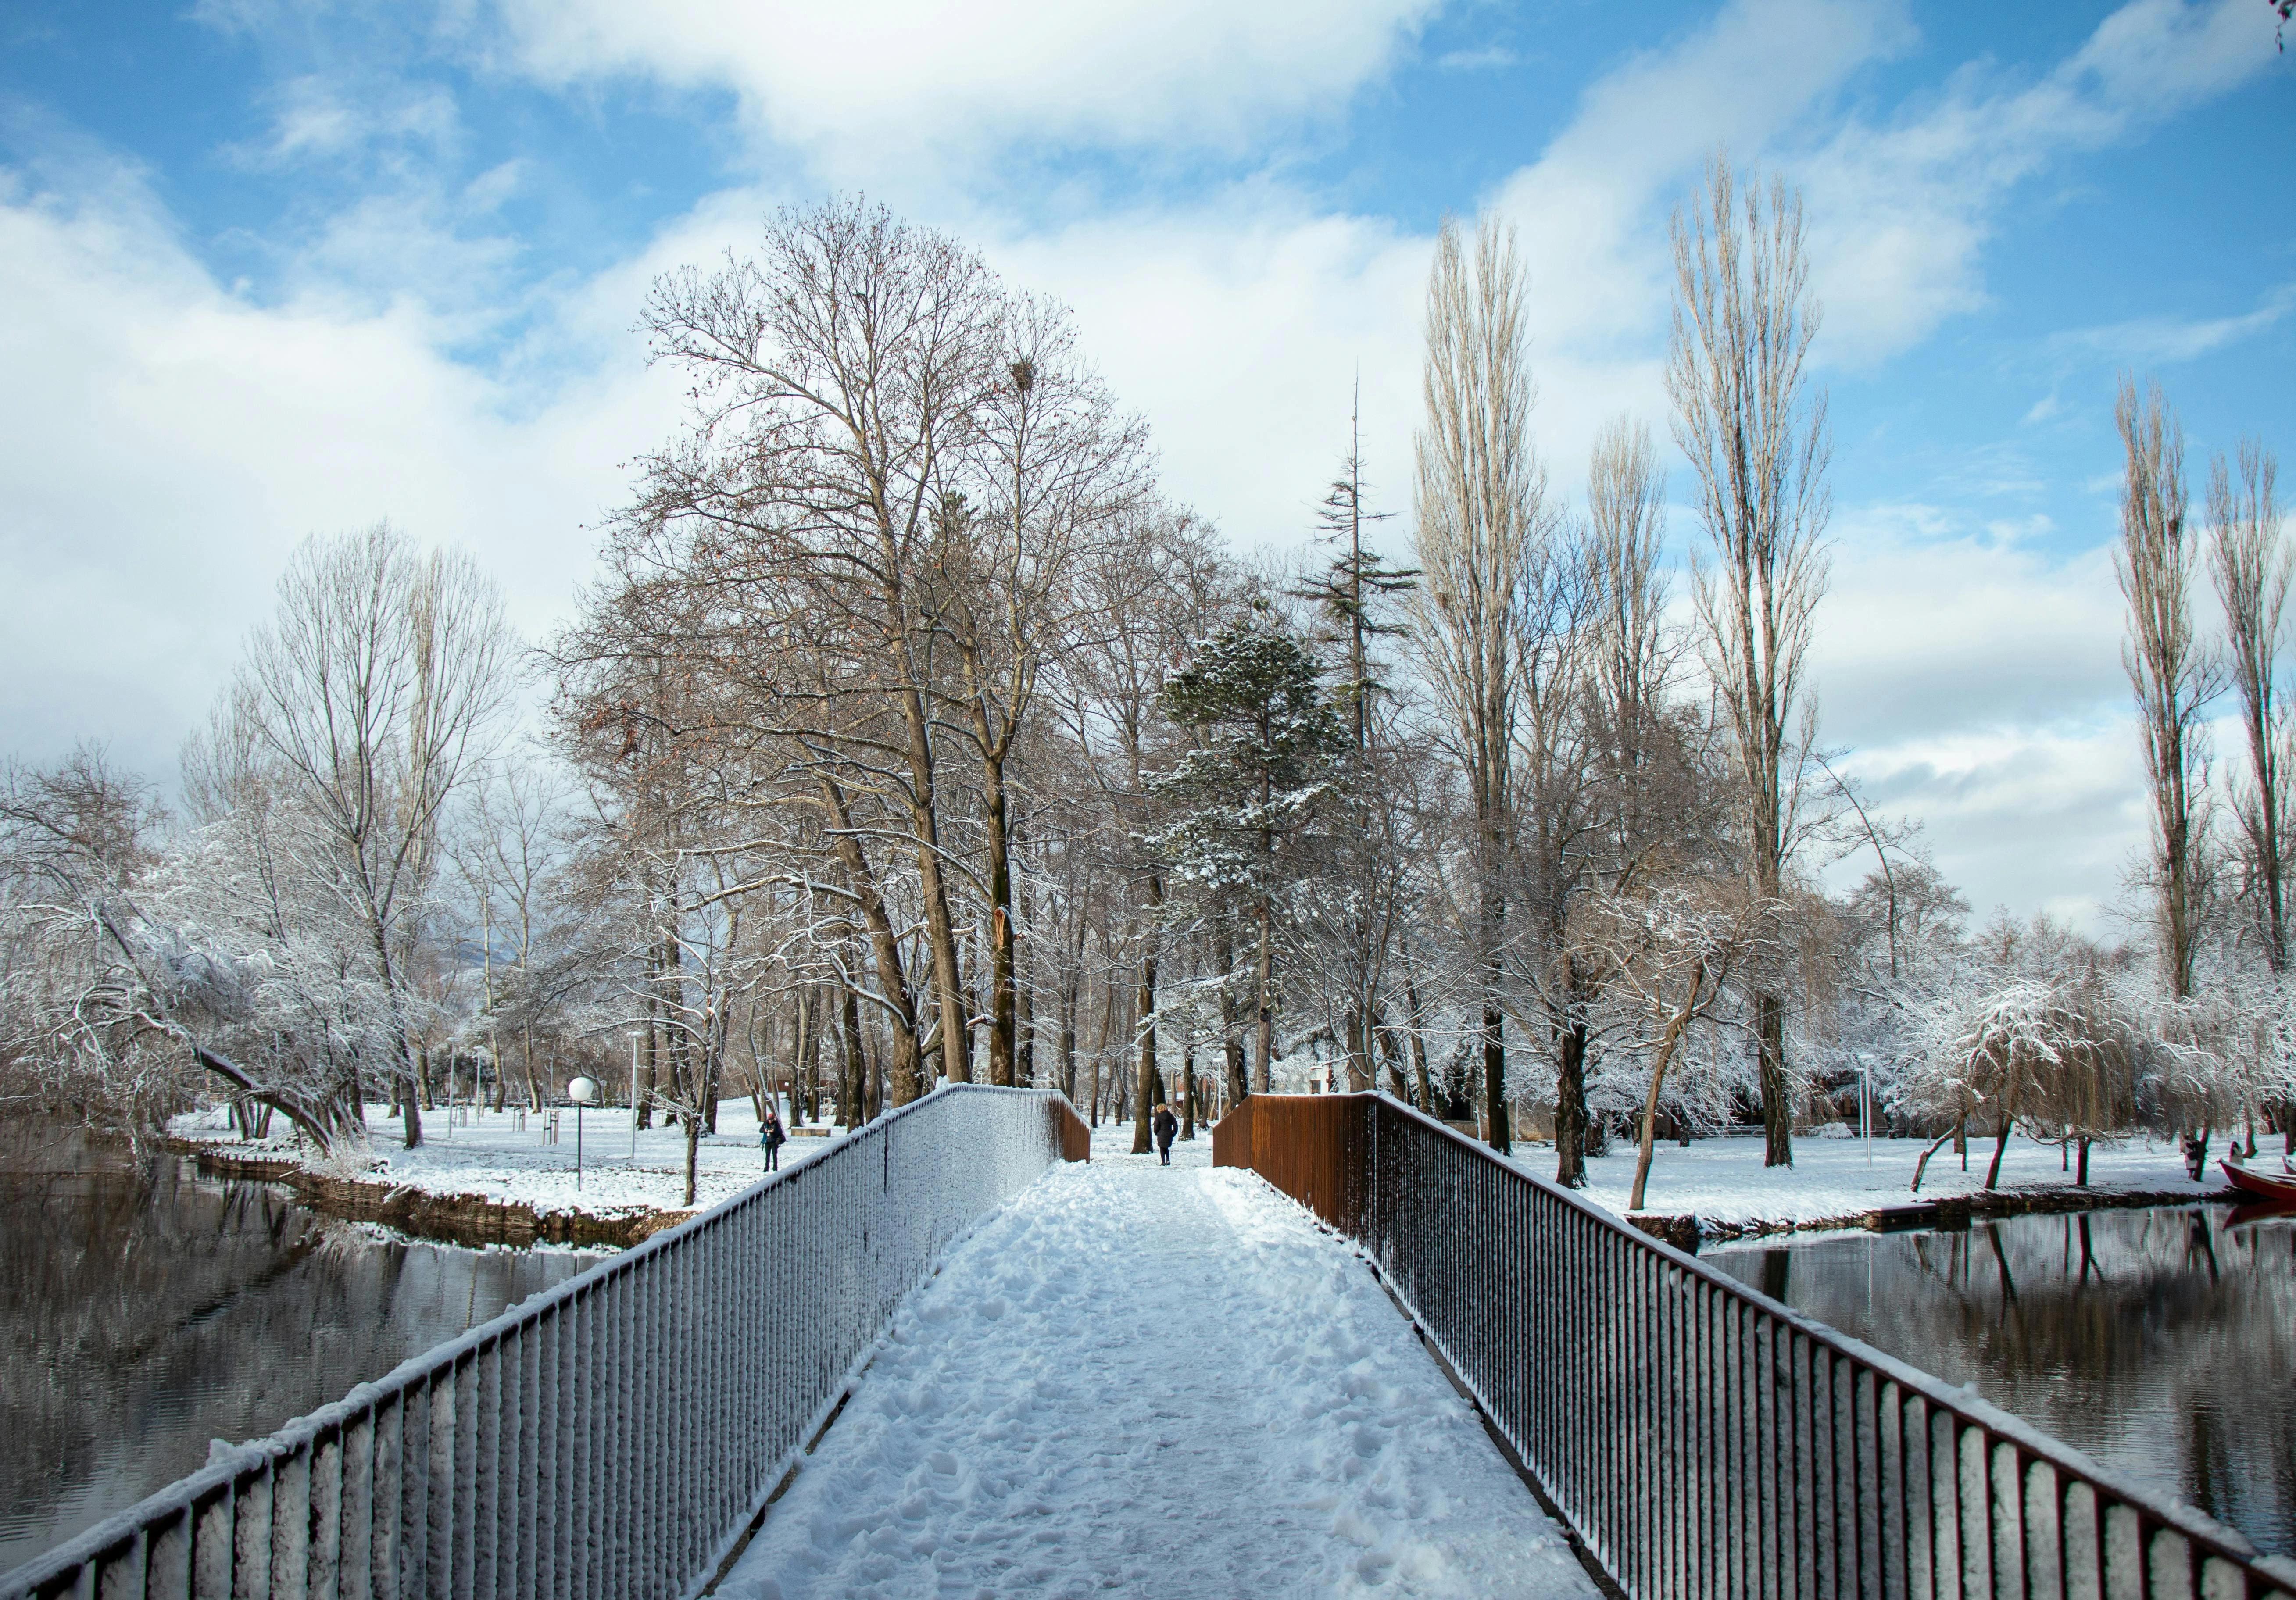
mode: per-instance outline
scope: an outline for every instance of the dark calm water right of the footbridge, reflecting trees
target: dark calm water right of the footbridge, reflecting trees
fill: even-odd
[[[2296,1552],[2296,1217],[2220,1205],[1968,1233],[1717,1246],[1708,1260]]]

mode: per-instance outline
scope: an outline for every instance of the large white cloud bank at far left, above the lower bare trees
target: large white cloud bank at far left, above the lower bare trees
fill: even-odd
[[[0,725],[165,771],[310,533],[390,516],[461,544],[530,631],[590,567],[579,530],[673,415],[634,342],[521,397],[420,310],[259,310],[181,253],[131,174],[76,204],[0,191]],[[627,317],[625,317],[627,321]],[[528,409],[521,409],[528,402]]]

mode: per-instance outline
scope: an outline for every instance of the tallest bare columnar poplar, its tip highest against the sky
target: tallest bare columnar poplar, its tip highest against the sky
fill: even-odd
[[[1738,188],[1724,156],[1674,216],[1674,443],[1697,475],[1711,553],[1697,562],[1697,615],[1738,746],[1747,881],[1779,904],[1793,799],[1809,739],[1802,682],[1825,595],[1825,395],[1809,390],[1821,308],[1809,292],[1802,200],[1782,181]],[[1768,1166],[1793,1162],[1786,1001],[1756,969],[1754,1033]]]

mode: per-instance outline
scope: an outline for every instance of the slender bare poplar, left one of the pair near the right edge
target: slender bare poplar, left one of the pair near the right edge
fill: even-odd
[[[2186,526],[2183,429],[2161,386],[2140,399],[2122,379],[2112,409],[2128,452],[2122,549],[2112,569],[2128,601],[2122,666],[2138,698],[2138,735],[2154,799],[2151,888],[2161,918],[2161,976],[2193,994],[2193,953],[2206,888],[2209,744],[2204,707],[2218,663],[2193,627],[2193,533]]]

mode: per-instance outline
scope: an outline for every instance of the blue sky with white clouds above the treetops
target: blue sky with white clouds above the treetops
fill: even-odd
[[[1304,537],[1357,374],[1407,512],[1430,236],[1511,218],[1577,498],[1605,418],[1665,438],[1665,223],[1715,149],[1809,204],[1825,739],[1979,909],[2105,927],[2117,374],[2195,480],[2243,434],[2296,477],[2266,0],[11,0],[0,753],[168,776],[315,530],[468,546],[544,631],[677,418],[647,280],[829,193],[1068,298],[1238,546]]]

